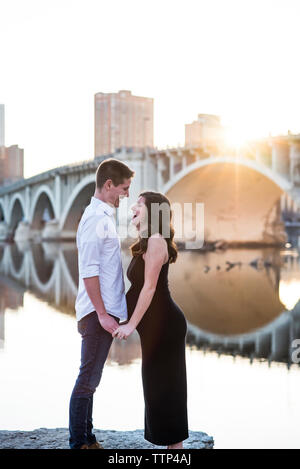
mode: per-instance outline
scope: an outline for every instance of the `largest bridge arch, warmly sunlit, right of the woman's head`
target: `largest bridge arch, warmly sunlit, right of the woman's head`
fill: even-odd
[[[180,208],[178,218],[174,213],[181,223],[175,223],[175,237],[179,226],[184,236],[178,239],[192,240],[197,235],[208,243],[281,245],[287,240],[281,198],[291,188],[289,181],[256,161],[224,156],[183,168],[162,191]],[[198,203],[202,215],[196,219]],[[192,214],[185,204],[192,204]]]

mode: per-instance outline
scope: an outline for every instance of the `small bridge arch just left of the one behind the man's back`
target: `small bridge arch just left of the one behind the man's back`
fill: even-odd
[[[54,197],[49,187],[42,185],[32,200],[29,222],[33,229],[42,229],[53,218],[56,218]]]

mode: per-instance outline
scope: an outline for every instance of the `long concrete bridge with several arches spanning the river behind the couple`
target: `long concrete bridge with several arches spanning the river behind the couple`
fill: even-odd
[[[0,187],[0,239],[74,239],[94,191],[95,171],[104,158],[115,157],[136,172],[130,199],[118,210],[122,223],[128,222],[139,192],[151,189],[182,207],[203,203],[205,241],[281,244],[286,240],[282,213],[298,213],[300,149],[294,145],[287,159],[282,143],[274,142],[270,155],[257,148],[250,155],[212,155],[203,148],[122,149],[55,168]],[[195,223],[195,213],[190,216]]]

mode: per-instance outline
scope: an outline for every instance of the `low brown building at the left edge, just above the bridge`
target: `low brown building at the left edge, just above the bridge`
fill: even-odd
[[[0,184],[11,184],[24,177],[24,150],[18,145],[0,147]]]

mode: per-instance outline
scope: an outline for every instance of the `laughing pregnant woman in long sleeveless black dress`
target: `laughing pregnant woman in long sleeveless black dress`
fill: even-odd
[[[163,210],[154,213],[158,204]],[[113,337],[127,339],[137,329],[141,339],[145,439],[167,449],[183,448],[182,441],[189,436],[187,324],[168,288],[169,263],[177,258],[170,202],[160,193],[142,192],[132,210],[139,237],[131,246],[133,258],[127,270],[129,322],[119,326]]]

